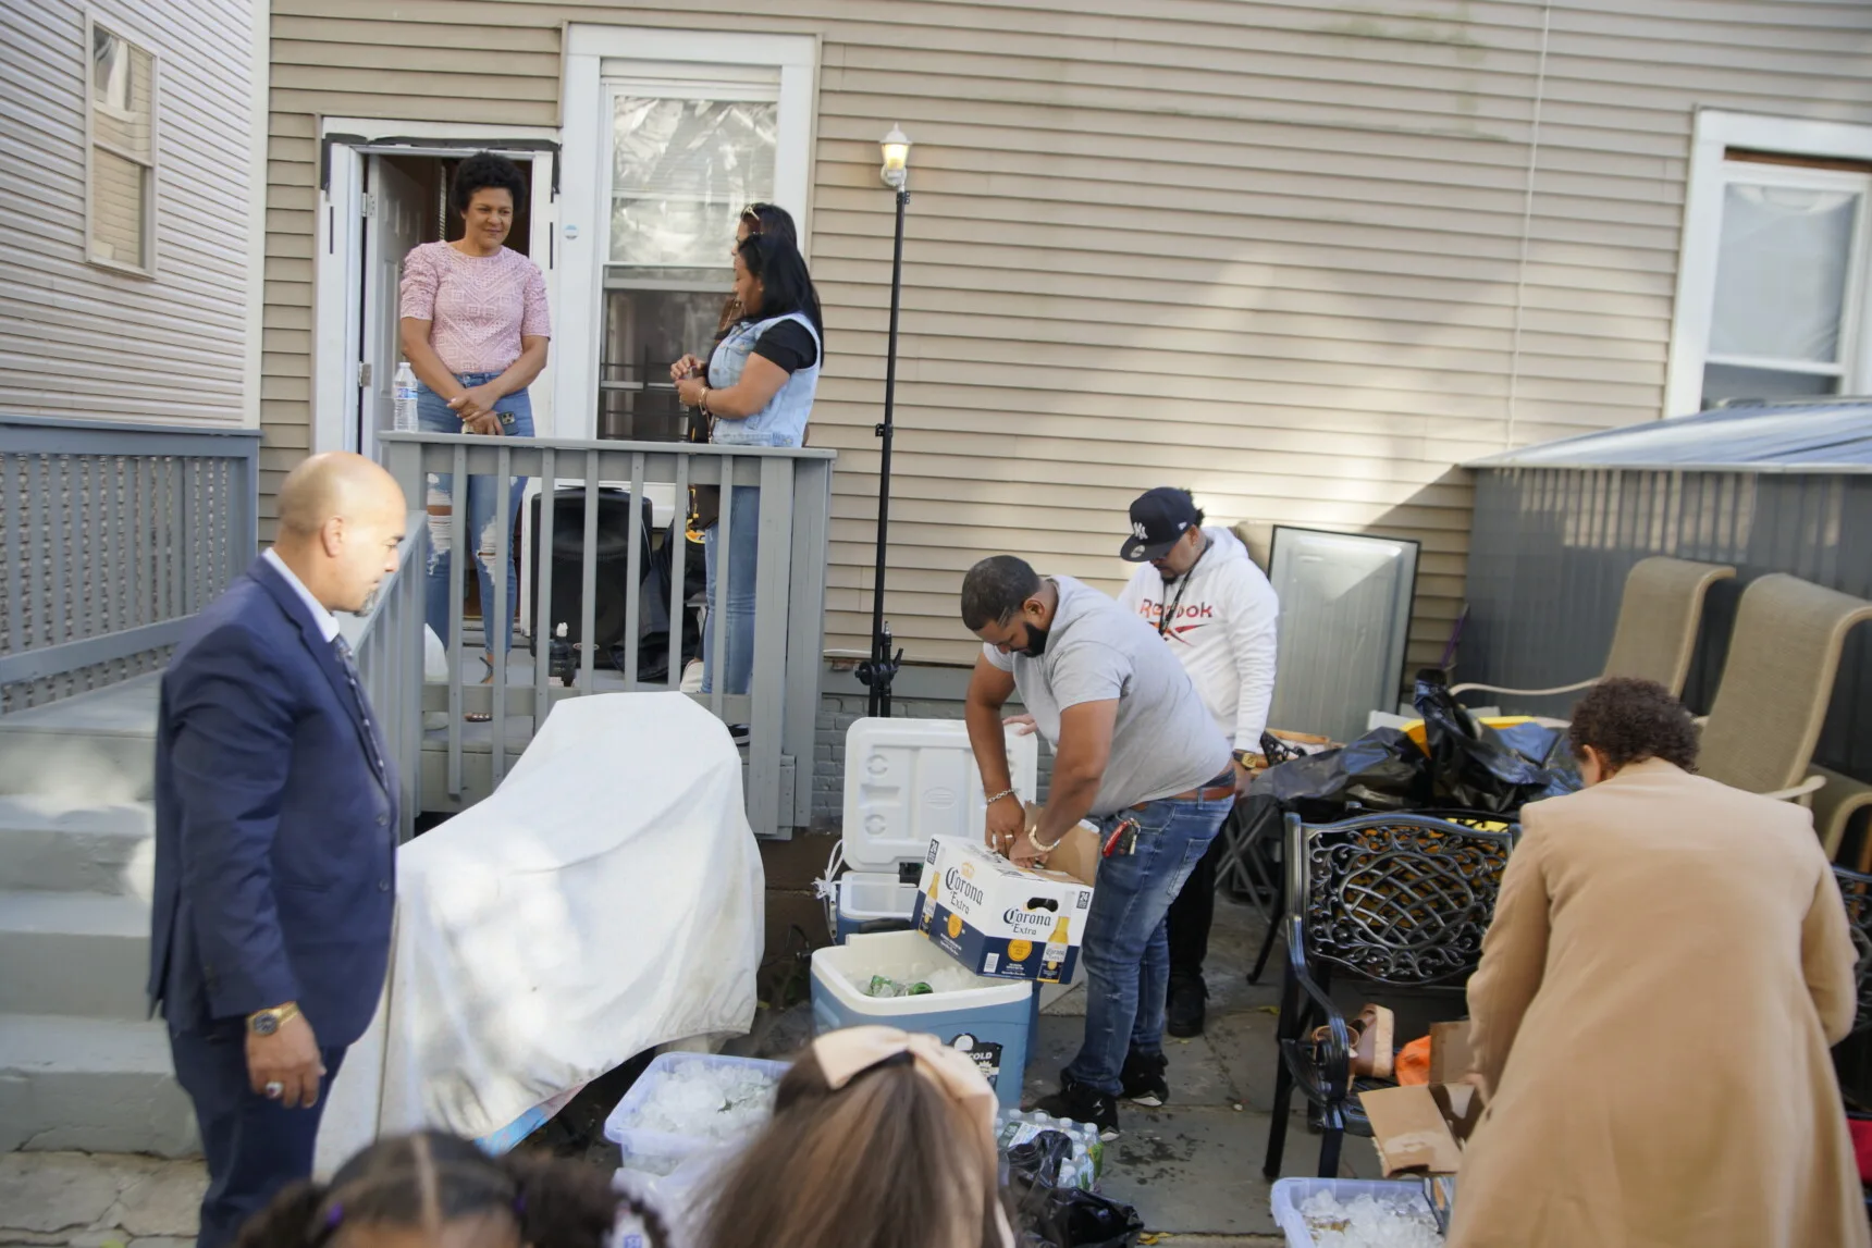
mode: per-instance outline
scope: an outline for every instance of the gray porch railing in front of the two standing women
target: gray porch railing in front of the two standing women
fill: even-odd
[[[754,573],[754,672],[747,694],[726,694],[724,681],[713,683],[709,694],[691,694],[715,717],[728,724],[747,724],[745,795],[749,823],[758,834],[784,836],[788,829],[803,827],[812,818],[812,735],[818,718],[818,674],[826,614],[826,554],[831,520],[833,451],[807,447],[734,447],[695,445],[672,442],[569,442],[547,438],[479,438],[462,434],[384,434],[384,464],[402,485],[412,505],[429,498],[429,477],[453,475],[453,494],[436,500],[451,515],[468,515],[466,494],[470,477],[494,477],[505,486],[515,477],[541,481],[539,524],[532,533],[534,558],[530,610],[515,634],[515,651],[524,653],[520,632],[530,632],[532,679],[509,679],[507,664],[496,662],[492,681],[481,685],[481,664],[464,664],[472,651],[464,644],[462,591],[474,569],[466,524],[451,524],[449,558],[449,679],[423,685],[425,720],[440,726],[423,733],[419,758],[423,808],[462,808],[490,793],[507,773],[511,758],[526,747],[534,730],[545,720],[552,704],[588,692],[607,690],[680,690],[683,679],[681,632],[683,580],[691,552],[683,541],[689,486],[758,486],[760,548]],[[580,616],[556,619],[552,614],[552,550],[556,485],[582,485],[580,543]],[[629,490],[627,558],[623,559],[623,621],[622,640],[614,647],[616,672],[599,672],[599,651],[593,644],[577,649],[577,672],[571,685],[552,679],[550,640],[560,625],[577,629],[578,638],[595,636],[597,569],[599,569],[599,490],[616,486]],[[638,621],[644,610],[642,578],[644,531],[642,500],[646,488],[668,490],[676,509],[668,526],[670,546],[670,659],[668,672],[659,681],[640,681]],[[507,595],[513,574],[511,535],[515,515],[509,509],[509,488],[496,488],[494,516],[494,599]],[[734,548],[732,509],[723,490],[717,530],[721,567]],[[406,565],[412,580],[423,567]],[[726,591],[724,595],[726,597]],[[402,599],[399,599],[401,602]],[[421,617],[421,610],[416,610]],[[715,651],[709,662],[715,672],[726,668],[726,629],[715,629]],[[421,629],[397,631],[410,647],[410,659],[421,666]],[[489,724],[466,722],[468,713],[489,715]]]

